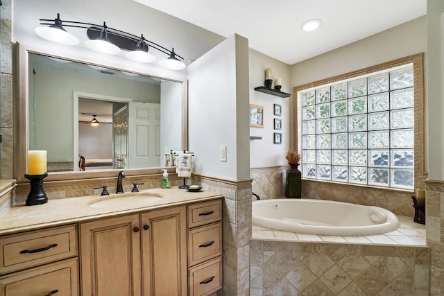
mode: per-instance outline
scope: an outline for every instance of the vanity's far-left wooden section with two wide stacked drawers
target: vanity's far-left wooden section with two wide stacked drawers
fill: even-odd
[[[0,238],[0,295],[79,295],[77,227]]]

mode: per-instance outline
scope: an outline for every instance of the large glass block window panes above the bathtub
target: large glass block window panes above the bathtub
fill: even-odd
[[[302,177],[413,189],[413,65],[299,92]]]

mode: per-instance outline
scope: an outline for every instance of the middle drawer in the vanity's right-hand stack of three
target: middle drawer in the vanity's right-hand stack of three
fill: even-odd
[[[222,254],[222,223],[188,230],[188,265]]]

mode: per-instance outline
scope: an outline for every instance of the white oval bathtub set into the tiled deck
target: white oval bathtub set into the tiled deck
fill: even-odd
[[[310,199],[253,202],[253,224],[285,232],[366,236],[393,232],[400,221],[380,207]]]

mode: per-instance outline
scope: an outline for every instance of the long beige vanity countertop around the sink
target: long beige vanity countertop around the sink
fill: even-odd
[[[151,194],[160,197],[153,202],[143,205],[131,203],[134,195]],[[90,207],[89,204],[102,199],[128,198],[128,203],[104,207]],[[8,213],[0,218],[0,235],[12,234],[26,230],[40,229],[77,223],[84,220],[105,218],[123,214],[132,214],[139,211],[159,209],[162,207],[187,204],[189,202],[200,202],[223,198],[221,193],[212,191],[189,192],[185,189],[147,189],[139,193],[110,194],[108,196],[88,195],[77,198],[49,199],[46,204],[26,206],[16,204],[10,208]]]

